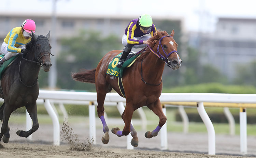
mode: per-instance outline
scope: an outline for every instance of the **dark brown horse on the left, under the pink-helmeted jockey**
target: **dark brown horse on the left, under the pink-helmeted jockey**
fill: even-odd
[[[38,74],[42,69],[48,72],[51,64],[50,31],[46,36],[37,36],[32,31],[31,41],[26,45],[28,52],[18,54],[12,65],[6,68],[1,78],[1,94],[4,103],[0,108],[2,121],[0,141],[9,142],[10,127],[8,121],[11,113],[17,108],[25,106],[33,126],[28,131],[18,130],[20,137],[28,137],[39,128],[37,119],[37,98],[39,95]]]

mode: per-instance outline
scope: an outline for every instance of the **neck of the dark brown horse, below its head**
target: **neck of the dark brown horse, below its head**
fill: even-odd
[[[34,83],[38,79],[38,74],[40,71],[39,63],[32,62],[34,60],[34,54],[28,52],[25,59],[22,59],[20,62],[20,77],[22,81],[28,84]]]

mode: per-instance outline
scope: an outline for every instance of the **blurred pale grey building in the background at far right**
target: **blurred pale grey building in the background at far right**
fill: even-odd
[[[220,17],[213,33],[190,33],[189,44],[200,50],[201,64],[232,80],[239,66],[256,61],[256,18]]]

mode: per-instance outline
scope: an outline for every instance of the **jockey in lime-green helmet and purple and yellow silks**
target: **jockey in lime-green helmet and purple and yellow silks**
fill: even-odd
[[[144,36],[150,33],[151,36]],[[142,14],[138,19],[129,22],[123,35],[122,44],[125,46],[116,67],[121,68],[130,53],[132,47],[144,48],[148,44],[148,39],[156,35],[156,27],[149,14]]]

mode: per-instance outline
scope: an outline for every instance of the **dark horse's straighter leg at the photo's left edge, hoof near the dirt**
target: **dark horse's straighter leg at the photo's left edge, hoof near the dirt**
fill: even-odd
[[[3,139],[4,143],[8,143],[10,139],[10,127],[8,126],[8,121],[10,118],[11,113],[13,112],[9,106],[6,106],[5,103],[1,106],[0,109],[0,118],[2,121],[1,133],[0,133],[0,141]]]

